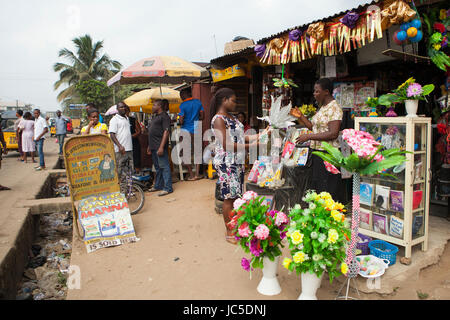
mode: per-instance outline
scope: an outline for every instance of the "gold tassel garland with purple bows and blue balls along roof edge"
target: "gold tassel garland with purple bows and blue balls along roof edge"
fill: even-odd
[[[412,4],[413,6],[413,4]],[[272,39],[255,52],[264,64],[297,63],[314,56],[333,56],[359,49],[383,37],[383,30],[392,24],[408,23],[416,16],[404,0],[381,4],[382,10],[349,11],[331,22],[315,22],[306,30],[294,29]],[[445,12],[447,14],[447,12]],[[411,42],[422,40],[421,21],[414,19],[408,27],[393,37],[397,44],[409,39]]]

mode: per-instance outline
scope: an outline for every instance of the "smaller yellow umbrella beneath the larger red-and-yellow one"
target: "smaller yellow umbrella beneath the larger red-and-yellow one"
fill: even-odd
[[[180,92],[169,88],[146,89],[139,91],[124,100],[133,112],[152,113],[153,102],[157,99],[167,99],[171,113],[178,113],[180,104]]]

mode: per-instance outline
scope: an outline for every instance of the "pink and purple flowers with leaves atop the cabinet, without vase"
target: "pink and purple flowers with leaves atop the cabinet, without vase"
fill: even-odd
[[[403,82],[393,93],[384,94],[379,97],[378,102],[384,106],[390,106],[394,103],[405,100],[425,100],[434,90],[434,84],[421,86],[414,78],[409,78]]]

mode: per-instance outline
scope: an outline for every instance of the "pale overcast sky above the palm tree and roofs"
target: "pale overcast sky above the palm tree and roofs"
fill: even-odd
[[[0,98],[56,110],[52,66],[74,37],[104,40],[124,67],[174,55],[209,61],[226,42],[255,42],[285,29],[357,7],[364,0],[14,0],[0,2]]]

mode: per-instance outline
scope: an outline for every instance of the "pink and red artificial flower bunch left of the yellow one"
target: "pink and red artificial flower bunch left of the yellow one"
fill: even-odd
[[[229,227],[234,230],[242,249],[252,256],[251,259],[242,258],[241,266],[246,271],[263,268],[264,257],[274,261],[281,255],[281,241],[286,238],[289,218],[283,212],[269,211],[265,197],[253,191],[247,191],[234,202],[233,207]]]

